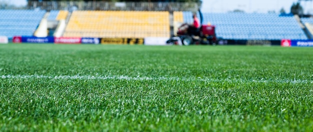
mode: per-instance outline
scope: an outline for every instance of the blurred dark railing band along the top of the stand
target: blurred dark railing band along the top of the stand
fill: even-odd
[[[26,9],[196,11],[197,2],[28,1]]]

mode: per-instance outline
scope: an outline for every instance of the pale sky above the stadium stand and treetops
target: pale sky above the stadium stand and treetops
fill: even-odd
[[[26,5],[26,0],[0,0],[17,6]],[[267,13],[268,11],[279,12],[281,8],[289,13],[293,2],[297,0],[202,0],[202,12],[228,12],[240,9],[247,13],[258,12]],[[313,14],[313,0],[302,1],[304,13]]]

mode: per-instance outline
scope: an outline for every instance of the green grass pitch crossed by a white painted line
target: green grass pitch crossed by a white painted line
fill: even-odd
[[[0,44],[0,131],[312,132],[313,48]]]

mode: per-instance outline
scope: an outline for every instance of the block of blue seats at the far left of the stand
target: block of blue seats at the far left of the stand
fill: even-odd
[[[45,10],[0,9],[0,36],[32,36]]]

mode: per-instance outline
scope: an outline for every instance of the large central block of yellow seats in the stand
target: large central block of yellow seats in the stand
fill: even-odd
[[[73,11],[65,37],[169,37],[168,11]]]

